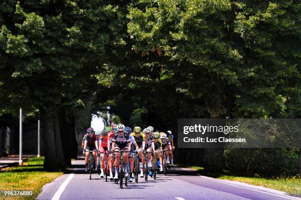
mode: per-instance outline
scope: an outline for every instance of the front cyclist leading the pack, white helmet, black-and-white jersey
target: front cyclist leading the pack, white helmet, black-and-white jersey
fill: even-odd
[[[127,151],[130,149],[130,139],[127,133],[124,133],[124,125],[118,124],[116,129],[118,133],[115,133],[113,142],[112,142],[112,149],[114,151],[120,151],[122,149],[123,151]],[[119,163],[120,163],[120,152],[116,152],[116,159],[115,159],[115,176],[114,179],[118,180],[118,170],[119,170]],[[124,175],[125,177],[128,176],[127,171],[127,162],[128,162],[128,153],[123,153],[123,166],[124,166]]]

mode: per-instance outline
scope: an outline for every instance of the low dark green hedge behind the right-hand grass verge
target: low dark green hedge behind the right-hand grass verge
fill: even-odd
[[[289,176],[297,173],[296,149],[230,149],[225,150],[225,167],[238,173],[263,176]]]

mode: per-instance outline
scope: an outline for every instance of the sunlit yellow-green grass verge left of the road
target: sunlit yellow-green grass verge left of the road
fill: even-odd
[[[43,185],[63,174],[62,171],[45,171],[44,157],[29,158],[23,166],[5,168],[0,171],[1,190],[32,190],[32,197],[10,197],[8,200],[34,200]],[[0,197],[0,199],[3,197]]]

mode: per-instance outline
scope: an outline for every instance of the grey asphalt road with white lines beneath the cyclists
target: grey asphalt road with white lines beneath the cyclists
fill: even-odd
[[[114,181],[105,182],[98,174],[84,172],[84,161],[72,162],[66,173],[43,187],[38,200],[301,200],[283,192],[235,181],[200,176],[194,171],[173,168],[149,182],[129,183],[123,189]]]

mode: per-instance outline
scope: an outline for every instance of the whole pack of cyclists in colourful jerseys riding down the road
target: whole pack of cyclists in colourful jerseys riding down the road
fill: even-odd
[[[88,161],[90,151],[93,157],[93,168],[96,169],[96,161],[100,156],[100,177],[104,177],[105,155],[108,155],[108,167],[110,180],[118,180],[118,171],[120,167],[120,150],[122,150],[122,161],[124,167],[124,175],[128,177],[128,181],[133,181],[134,160],[139,159],[140,177],[144,177],[143,167],[148,163],[148,167],[152,167],[154,157],[159,161],[159,171],[163,171],[163,151],[166,156],[166,163],[173,166],[173,151],[175,149],[173,135],[171,131],[159,132],[153,131],[153,127],[149,126],[143,131],[139,126],[135,126],[134,130],[125,127],[123,124],[112,124],[103,130],[94,131],[92,127],[87,129],[87,134],[83,137],[82,147],[85,154],[85,170],[88,171]],[[147,154],[147,156],[144,156]],[[170,158],[169,158],[170,157]],[[146,159],[148,159],[146,161]],[[128,166],[129,164],[129,166]],[[115,169],[114,169],[115,167]],[[128,171],[129,169],[129,171]],[[115,176],[113,172],[115,170]],[[152,175],[152,171],[149,172]]]

